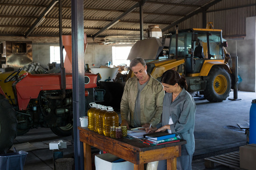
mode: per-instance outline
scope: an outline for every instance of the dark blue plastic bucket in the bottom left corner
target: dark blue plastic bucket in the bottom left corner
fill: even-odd
[[[0,170],[23,170],[27,152],[0,154]]]

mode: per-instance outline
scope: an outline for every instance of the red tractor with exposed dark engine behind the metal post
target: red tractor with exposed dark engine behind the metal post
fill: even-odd
[[[97,75],[85,73],[84,78],[88,96],[88,90],[97,86]],[[32,75],[21,68],[0,74],[0,153],[12,146],[17,134],[31,128],[50,127],[58,136],[72,134],[72,74],[65,80],[62,90],[60,74]]]

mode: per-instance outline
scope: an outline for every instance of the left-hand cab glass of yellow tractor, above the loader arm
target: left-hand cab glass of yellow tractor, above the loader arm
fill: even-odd
[[[188,32],[183,32],[178,34],[178,57],[188,56],[188,49],[191,48],[192,34]],[[172,42],[170,53],[175,56],[175,46],[176,44],[176,35],[172,35]]]

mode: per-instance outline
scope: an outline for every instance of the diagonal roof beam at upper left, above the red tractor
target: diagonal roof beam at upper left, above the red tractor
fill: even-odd
[[[58,2],[58,0],[53,0],[50,5],[44,10],[44,12],[40,15],[40,17],[37,18],[36,22],[34,22],[34,24],[27,30],[27,32],[25,33],[25,38],[27,38],[27,36],[29,34],[32,33],[32,31],[34,31],[34,29],[39,26],[45,19],[45,16],[47,15],[47,13],[55,6],[55,4]]]

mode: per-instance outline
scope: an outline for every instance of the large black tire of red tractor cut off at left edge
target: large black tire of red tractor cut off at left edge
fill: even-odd
[[[9,101],[0,94],[0,154],[6,153],[17,136],[18,121]]]

